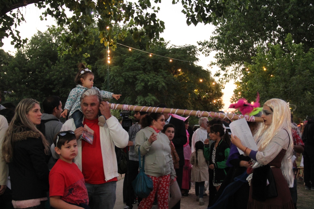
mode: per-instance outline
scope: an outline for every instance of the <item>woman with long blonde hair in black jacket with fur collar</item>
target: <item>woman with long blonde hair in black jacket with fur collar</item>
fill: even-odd
[[[14,208],[41,209],[47,200],[49,144],[36,128],[40,123],[39,102],[23,99],[3,141],[1,157],[8,163]]]

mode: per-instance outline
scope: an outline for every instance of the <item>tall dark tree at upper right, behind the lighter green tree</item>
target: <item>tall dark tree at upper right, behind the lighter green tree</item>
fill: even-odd
[[[227,1],[228,2],[228,1]],[[253,63],[257,50],[269,50],[268,44],[284,44],[290,33],[303,50],[314,48],[314,7],[312,0],[251,0],[242,10],[228,2],[228,15],[220,18],[213,36],[198,42],[203,54],[216,51],[216,76],[222,81],[241,79],[244,63]]]

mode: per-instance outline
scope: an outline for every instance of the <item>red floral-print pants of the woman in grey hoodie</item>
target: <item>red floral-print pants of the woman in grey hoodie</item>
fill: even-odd
[[[141,203],[138,206],[138,209],[150,209],[153,206],[155,199],[155,194],[157,191],[157,201],[159,209],[168,209],[168,195],[169,195],[169,183],[170,183],[170,174],[154,177],[147,175],[153,180],[153,191],[150,192],[149,196],[143,198]]]

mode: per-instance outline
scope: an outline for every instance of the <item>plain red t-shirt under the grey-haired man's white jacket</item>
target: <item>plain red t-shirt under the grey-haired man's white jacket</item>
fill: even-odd
[[[84,118],[83,124],[86,124],[95,132],[93,144],[89,144],[85,140],[82,140],[82,173],[85,182],[89,184],[103,184],[109,181],[117,181],[118,179],[116,177],[108,181],[105,180],[98,118],[95,120]]]

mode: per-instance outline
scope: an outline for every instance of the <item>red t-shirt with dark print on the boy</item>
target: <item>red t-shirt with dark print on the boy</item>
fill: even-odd
[[[49,196],[61,196],[61,200],[88,205],[88,193],[84,176],[75,163],[58,159],[49,173]]]

